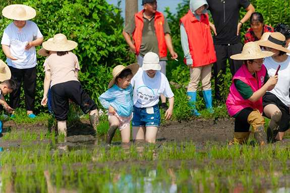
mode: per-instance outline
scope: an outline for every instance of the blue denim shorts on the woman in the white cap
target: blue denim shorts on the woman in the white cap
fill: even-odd
[[[158,105],[153,106],[154,113],[148,114],[146,108],[133,106],[132,126],[157,126],[160,127],[160,111]]]

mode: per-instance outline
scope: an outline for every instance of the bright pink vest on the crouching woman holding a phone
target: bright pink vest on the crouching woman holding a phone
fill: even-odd
[[[229,94],[226,99],[226,108],[230,116],[234,116],[239,111],[246,107],[251,107],[253,109],[258,109],[261,113],[263,112],[263,103],[262,98],[256,102],[251,102],[249,99],[245,100],[238,92],[235,87],[234,80],[239,79],[249,85],[254,92],[262,88],[264,85],[264,80],[266,76],[266,68],[262,65],[262,69],[257,73],[257,79],[254,78],[251,73],[248,71],[247,66],[244,64],[233,77],[233,83],[229,88]]]

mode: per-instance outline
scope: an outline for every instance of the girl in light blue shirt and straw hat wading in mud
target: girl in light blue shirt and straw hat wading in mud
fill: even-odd
[[[109,110],[110,127],[106,136],[107,144],[111,143],[118,127],[122,142],[130,142],[130,121],[132,120],[133,109],[133,87],[130,82],[138,70],[138,63],[133,63],[128,67],[122,65],[115,67],[108,90],[99,97],[102,106]]]

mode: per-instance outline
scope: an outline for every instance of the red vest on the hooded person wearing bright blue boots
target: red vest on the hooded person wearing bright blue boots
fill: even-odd
[[[189,51],[193,60],[192,67],[209,65],[216,61],[213,41],[210,33],[208,15],[202,14],[200,21],[191,11],[181,18],[189,43]],[[186,63],[186,59],[185,59]]]

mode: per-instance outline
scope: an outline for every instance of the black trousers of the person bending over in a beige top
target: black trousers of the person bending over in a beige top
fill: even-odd
[[[68,119],[69,99],[79,105],[85,114],[98,108],[86,91],[82,89],[80,82],[59,83],[51,87],[51,107],[56,120]]]

